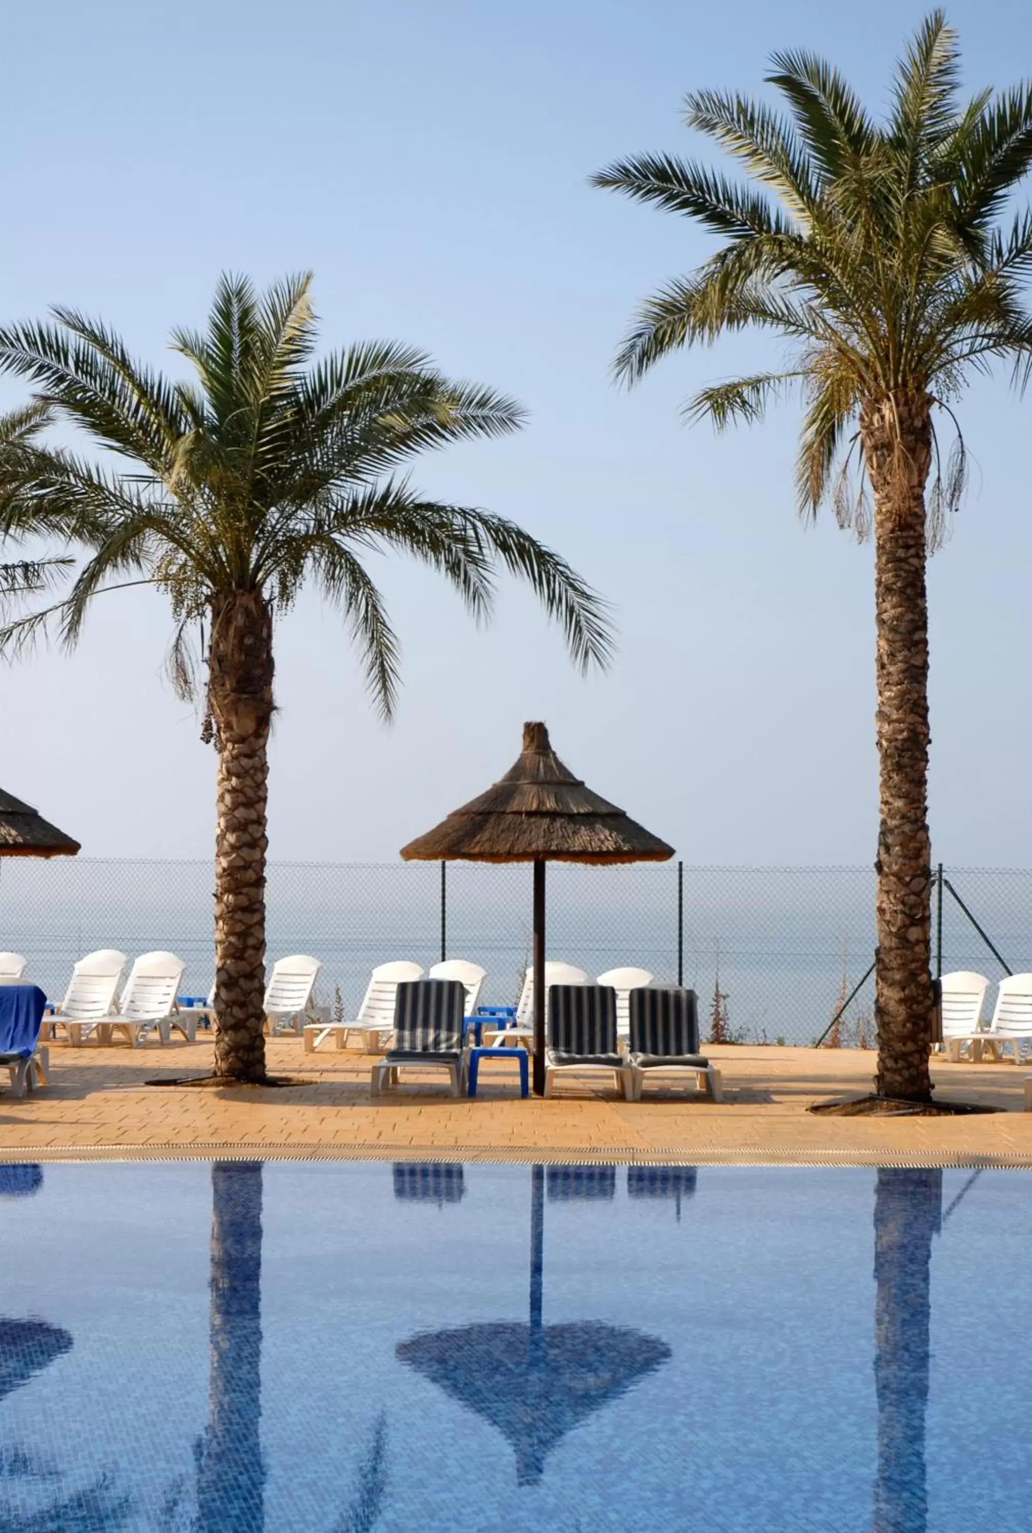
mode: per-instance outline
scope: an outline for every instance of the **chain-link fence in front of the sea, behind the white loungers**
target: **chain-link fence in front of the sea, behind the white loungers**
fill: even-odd
[[[186,989],[212,984],[207,862],[75,858],[0,863],[0,949],[60,996],[95,947],[167,947]],[[942,931],[942,940],[938,932]],[[932,891],[934,967],[992,980],[1032,969],[1032,871],[951,869]],[[547,871],[547,950],[592,977],[635,964],[698,990],[742,1041],[873,1044],[874,874],[866,868],[690,868],[681,863]],[[317,1000],[339,989],[347,1016],[370,969],[442,955],[488,970],[483,1000],[512,1003],[531,958],[531,868],[477,863],[279,863],[268,869],[268,954],[322,960]],[[843,1003],[850,1004],[845,1006]]]

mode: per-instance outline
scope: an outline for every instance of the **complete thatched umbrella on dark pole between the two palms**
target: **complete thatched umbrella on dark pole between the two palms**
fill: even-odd
[[[523,751],[494,786],[402,848],[425,862],[534,863],[534,1090],[544,1091],[546,862],[667,862],[673,846],[586,788],[563,765],[543,724],[523,725]]]

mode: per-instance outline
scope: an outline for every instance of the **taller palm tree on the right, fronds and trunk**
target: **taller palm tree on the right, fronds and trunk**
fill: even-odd
[[[702,389],[690,419],[759,420],[797,388],[805,517],[831,500],[865,535],[873,500],[880,828],[877,1090],[928,1101],[932,1030],[928,834],[929,543],[963,492],[957,446],[940,472],[934,422],[971,374],[1011,359],[1021,380],[1032,323],[1020,284],[1032,218],[998,218],[1032,159],[1032,89],[958,97],[954,32],[934,12],[897,66],[888,118],[805,52],[776,54],[787,112],[718,90],[687,98],[687,126],[731,153],[745,184],[695,162],[636,155],[593,184],[696,219],[722,238],[696,271],[636,316],[616,357],[635,383],[681,346],[754,327],[791,348],[787,368]],[[934,472],[931,489],[929,475]],[[926,495],[928,489],[928,495]]]

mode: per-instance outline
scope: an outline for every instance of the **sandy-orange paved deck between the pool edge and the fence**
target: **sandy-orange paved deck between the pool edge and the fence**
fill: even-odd
[[[859,1050],[715,1047],[727,1101],[624,1102],[572,1085],[520,1101],[515,1070],[485,1061],[480,1095],[455,1101],[442,1076],[370,1096],[371,1059],[268,1042],[288,1090],[153,1087],[210,1069],[212,1041],[143,1049],[51,1046],[51,1085],[14,1101],[0,1085],[0,1159],[299,1156],[465,1160],[1026,1165],[1032,1113],[1012,1064],[935,1061],[937,1098],[1004,1108],[971,1118],[823,1118],[810,1102],[871,1088],[876,1055]],[[6,1082],[6,1075],[3,1076]]]

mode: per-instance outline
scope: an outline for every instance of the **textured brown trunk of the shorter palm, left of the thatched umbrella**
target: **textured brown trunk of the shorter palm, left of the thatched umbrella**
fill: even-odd
[[[215,1075],[265,1079],[265,803],[273,618],[261,592],[215,598],[210,708],[219,751],[215,832]]]

